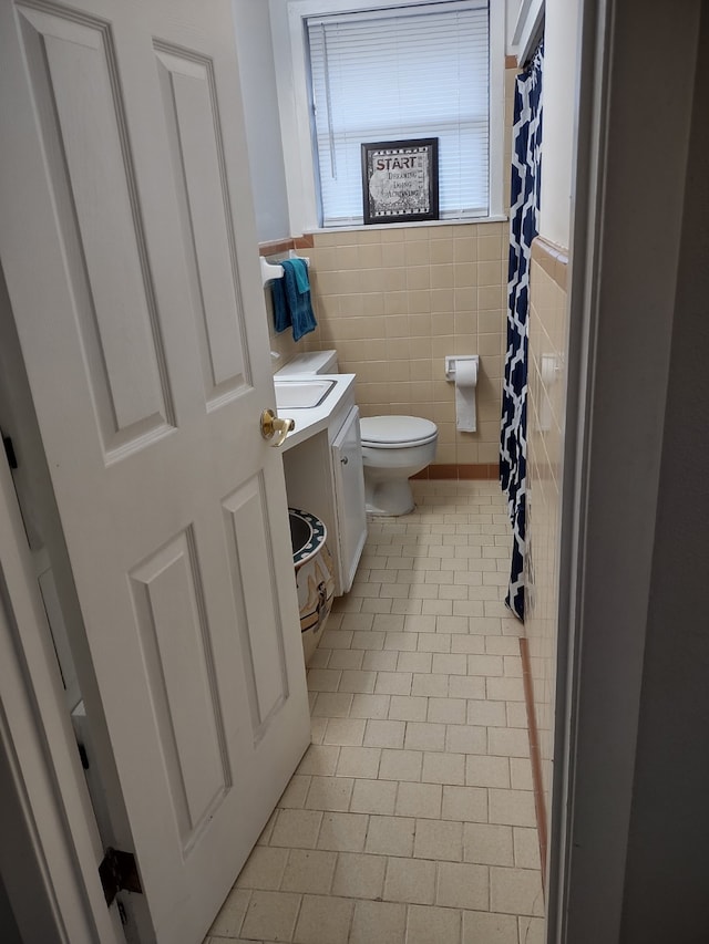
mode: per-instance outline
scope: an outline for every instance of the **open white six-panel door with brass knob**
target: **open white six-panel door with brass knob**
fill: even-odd
[[[0,141],[135,920],[196,944],[309,740],[228,0],[0,0]]]

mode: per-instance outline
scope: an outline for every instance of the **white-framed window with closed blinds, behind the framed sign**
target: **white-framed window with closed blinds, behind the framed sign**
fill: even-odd
[[[317,92],[316,84],[312,81],[310,59],[311,54],[316,56],[316,44],[320,42],[323,45],[322,35],[328,27],[333,28],[337,24],[338,34],[346,29],[364,29],[364,25],[358,25],[357,20],[362,24],[369,22],[371,41],[374,45],[369,48],[368,55],[363,55],[359,63],[359,73],[356,79],[354,86],[350,86],[350,93],[354,91],[354,101],[357,102],[357,111],[360,114],[358,122],[359,127],[349,132],[356,136],[354,154],[352,159],[348,159],[351,168],[350,173],[350,197],[349,204],[346,204],[345,209],[328,210],[329,226],[336,226],[340,222],[342,226],[360,226],[362,224],[361,208],[361,172],[360,172],[360,152],[359,146],[362,142],[377,141],[399,141],[409,135],[409,128],[415,128],[417,137],[439,137],[441,139],[441,160],[443,159],[443,132],[446,131],[445,125],[450,121],[452,103],[455,107],[460,107],[461,113],[467,108],[469,115],[479,114],[477,107],[485,110],[486,118],[482,118],[479,128],[484,131],[485,124],[487,127],[487,149],[481,144],[479,137],[477,144],[481,147],[480,157],[474,154],[466,159],[464,151],[459,151],[460,158],[458,165],[453,158],[446,157],[446,167],[440,174],[440,189],[446,190],[445,200],[442,204],[443,216],[446,219],[454,219],[456,215],[465,219],[504,219],[504,203],[503,191],[507,174],[503,162],[504,151],[504,75],[505,75],[505,0],[270,0],[271,10],[271,37],[274,43],[274,55],[276,60],[276,82],[278,85],[278,112],[280,121],[280,129],[282,137],[282,147],[286,165],[286,185],[288,189],[288,214],[290,219],[291,232],[311,232],[323,226],[322,199],[320,186],[320,172],[328,173],[332,177],[331,167],[329,167],[331,144],[336,152],[336,168],[338,175],[338,190],[342,188],[341,175],[345,174],[343,167],[345,157],[337,159],[337,128],[331,124],[326,131],[321,131],[321,142],[317,142],[317,128],[314,121],[314,92],[318,95],[318,121],[326,122],[327,127],[327,95],[325,104],[322,95],[325,89],[321,87]],[[440,35],[434,37],[430,29],[434,22],[433,19],[427,20],[427,17],[435,17],[438,23],[442,23],[445,28],[445,13],[454,14],[460,18],[455,21],[455,25],[450,28],[452,20],[448,21],[448,40]],[[465,38],[469,34],[470,27],[462,24],[465,19],[475,21],[481,33],[475,34],[476,39],[470,40]],[[379,64],[383,59],[383,53],[388,55],[392,49],[401,48],[399,35],[403,34],[407,27],[404,21],[409,21],[415,29],[419,30],[421,39],[421,24],[425,25],[425,35],[421,43],[420,60],[427,63],[425,81],[420,85],[413,94],[404,94],[399,90],[394,92],[391,76],[395,74],[397,83],[399,83],[399,65],[392,60],[390,68],[386,74],[386,83],[380,83],[378,90],[372,95],[370,94],[369,105],[363,110],[360,102],[364,101],[363,87],[364,79],[373,74],[374,69],[379,69]],[[459,27],[460,22],[460,27]],[[393,24],[393,25],[392,25]],[[315,33],[320,33],[318,40]],[[459,37],[460,32],[460,37]],[[312,49],[310,33],[314,33]],[[383,38],[388,37],[389,42],[386,49],[382,49]],[[408,41],[407,41],[408,42]],[[470,55],[465,49],[460,45],[463,42],[469,42]],[[333,39],[335,43],[335,39]],[[362,44],[350,43],[349,53],[364,53]],[[435,55],[435,51],[443,46],[446,50],[445,56]],[[327,53],[328,63],[330,63],[331,51],[335,45],[331,45],[328,39]],[[453,50],[453,53],[451,53]],[[325,51],[323,51],[325,52]],[[477,54],[482,62],[489,63],[489,71],[484,74],[484,65],[481,66],[475,75],[480,79],[480,84],[475,93],[475,103],[466,104],[462,90],[464,84],[460,81],[460,75],[470,74],[470,62],[473,55]],[[325,59],[325,55],[322,55]],[[378,102],[383,102],[386,98],[391,102],[395,101],[395,111],[399,114],[399,101],[410,103],[423,102],[439,90],[450,90],[451,86],[444,85],[444,76],[451,74],[452,60],[456,62],[456,69],[462,70],[462,73],[456,73],[452,79],[452,91],[450,94],[442,95],[443,105],[448,111],[443,112],[444,120],[439,127],[431,127],[429,120],[422,120],[421,115],[414,114],[407,118],[411,124],[401,131],[380,118],[374,120],[374,106]],[[435,61],[438,70],[434,70],[432,60]],[[342,58],[340,56],[340,61]],[[448,66],[449,71],[441,71]],[[323,83],[323,66],[320,66],[321,82]],[[314,65],[317,80],[317,66]],[[330,66],[330,72],[332,71]],[[330,95],[336,87],[338,79],[335,75],[329,75]],[[387,96],[383,94],[387,91]],[[359,92],[359,94],[357,94]],[[397,98],[394,100],[394,94]],[[459,97],[461,104],[459,106]],[[330,110],[332,110],[332,97],[330,100]],[[349,105],[345,106],[345,112],[349,111]],[[325,114],[323,114],[325,112]],[[362,115],[363,112],[363,115]],[[473,120],[474,124],[474,120]],[[423,126],[423,127],[422,127]],[[419,132],[419,128],[422,132]],[[386,131],[384,131],[386,128]],[[330,131],[332,137],[330,138]],[[403,133],[405,131],[405,134]],[[364,134],[366,132],[366,134]],[[461,136],[465,135],[466,131],[461,131]],[[322,137],[323,136],[323,137]],[[327,142],[327,143],[326,143]],[[325,149],[325,156],[321,156],[321,151]],[[472,151],[471,145],[471,151]],[[448,151],[448,147],[446,147]],[[350,151],[350,155],[352,152]],[[451,172],[451,168],[453,170]],[[460,194],[464,194],[463,187],[459,188],[459,196],[450,196],[449,181],[460,168],[460,174],[476,173],[477,189],[475,185],[471,188],[469,185],[467,193],[472,196],[461,198]],[[486,173],[485,173],[486,170]],[[444,179],[444,175],[446,179]],[[325,181],[328,183],[327,179]],[[458,186],[458,185],[455,185]],[[486,193],[485,193],[486,190]],[[451,191],[452,193],[452,191]],[[352,194],[354,196],[352,196]],[[441,197],[443,194],[441,193]],[[415,224],[413,224],[415,225]]]

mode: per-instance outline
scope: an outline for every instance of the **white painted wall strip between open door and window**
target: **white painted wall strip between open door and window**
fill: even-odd
[[[292,235],[268,6],[266,0],[232,0],[259,242]]]

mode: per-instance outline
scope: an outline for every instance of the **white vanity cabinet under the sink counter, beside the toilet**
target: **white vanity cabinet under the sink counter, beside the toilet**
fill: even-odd
[[[298,422],[306,411],[281,411]],[[296,437],[294,437],[296,439]],[[327,544],[335,562],[336,595],[347,593],[367,539],[364,476],[359,435],[359,409],[353,385],[339,400],[326,428],[284,444],[288,505],[310,511],[328,530]]]

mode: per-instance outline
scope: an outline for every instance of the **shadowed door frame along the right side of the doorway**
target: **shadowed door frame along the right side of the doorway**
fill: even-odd
[[[554,944],[620,940],[699,9],[582,3]]]

